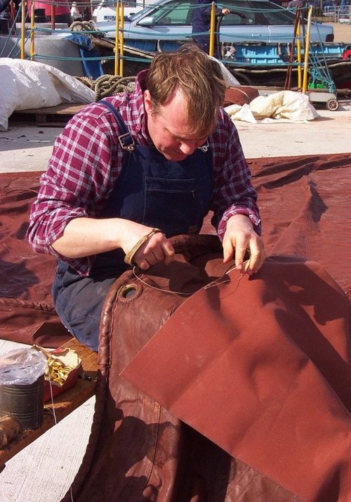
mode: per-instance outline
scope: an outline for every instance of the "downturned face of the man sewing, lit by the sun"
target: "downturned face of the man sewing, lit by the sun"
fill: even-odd
[[[183,94],[176,91],[171,98],[159,108],[157,114],[152,113],[150,92],[144,94],[145,111],[147,113],[147,129],[154,146],[167,160],[179,162],[194,150],[202,146],[212,129],[206,136],[194,137],[190,132],[187,110]]]

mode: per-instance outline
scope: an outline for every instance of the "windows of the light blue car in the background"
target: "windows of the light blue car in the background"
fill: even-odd
[[[211,6],[211,2],[208,2]],[[293,25],[295,15],[270,1],[225,0],[217,6],[230,9],[230,15],[223,17],[222,26],[233,25]],[[152,16],[153,25],[189,26],[196,8],[196,0],[169,0],[154,8],[147,7],[131,15],[129,20],[138,20],[145,14]]]

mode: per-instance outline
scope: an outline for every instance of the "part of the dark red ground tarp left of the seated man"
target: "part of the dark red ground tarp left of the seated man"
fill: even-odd
[[[70,335],[53,308],[56,261],[34,253],[25,236],[40,174],[0,174],[0,337],[58,347]]]

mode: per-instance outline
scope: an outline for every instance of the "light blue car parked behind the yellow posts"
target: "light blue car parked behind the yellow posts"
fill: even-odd
[[[231,12],[220,22],[220,42],[289,43],[293,40],[296,17],[293,10],[270,0],[225,0],[216,6],[229,8]],[[192,37],[195,8],[196,0],[159,0],[124,20],[124,43],[150,52],[175,50]],[[109,19],[110,22],[96,25],[114,39],[115,22]],[[332,42],[333,38],[332,26],[312,22],[310,41]]]

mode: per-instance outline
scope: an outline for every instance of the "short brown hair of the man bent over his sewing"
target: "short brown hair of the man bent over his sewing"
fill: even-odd
[[[220,65],[195,44],[184,44],[176,52],[157,54],[146,84],[154,113],[173,92],[183,93],[189,124],[197,136],[204,136],[213,127],[226,87]]]

